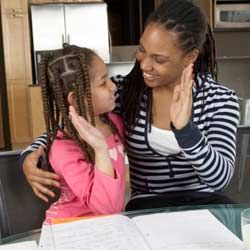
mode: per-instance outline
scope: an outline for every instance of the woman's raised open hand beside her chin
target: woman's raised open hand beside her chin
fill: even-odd
[[[181,84],[174,89],[170,107],[170,121],[176,129],[184,128],[191,117],[193,97],[193,64],[189,64],[182,72]]]

